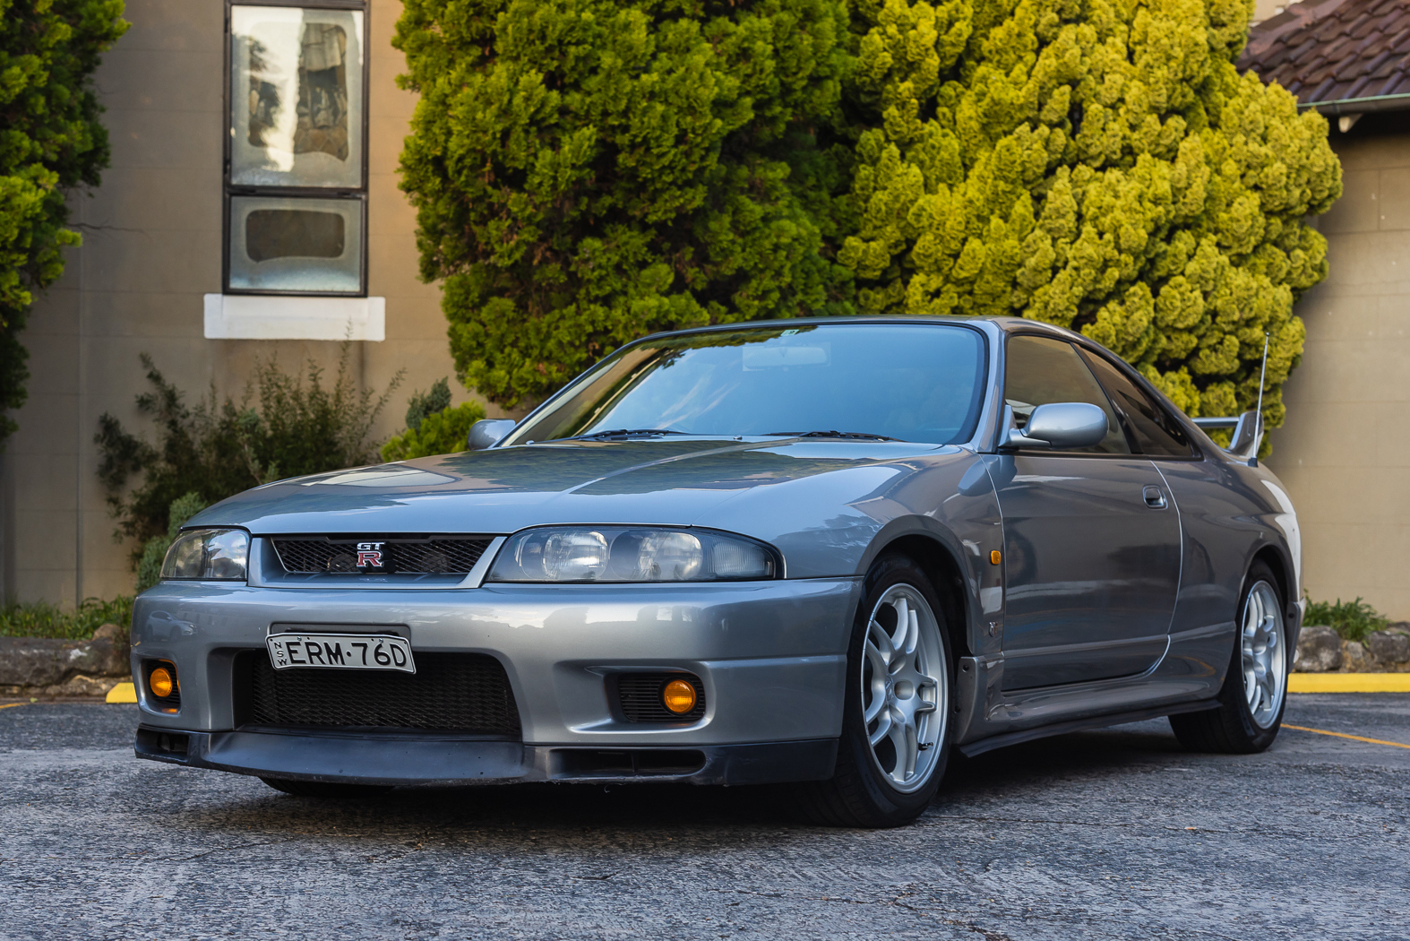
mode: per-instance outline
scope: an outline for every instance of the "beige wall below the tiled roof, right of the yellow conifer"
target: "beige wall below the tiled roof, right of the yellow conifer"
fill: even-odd
[[[1269,466],[1303,529],[1314,600],[1410,618],[1410,134],[1332,133],[1345,193],[1318,220],[1331,274],[1297,305],[1303,364]]]

